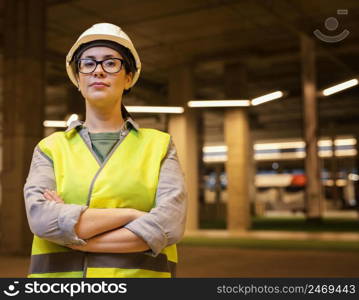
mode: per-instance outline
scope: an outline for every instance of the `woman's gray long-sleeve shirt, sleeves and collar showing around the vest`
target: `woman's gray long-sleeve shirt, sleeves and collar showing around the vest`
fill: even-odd
[[[91,149],[88,129],[74,121],[67,131],[76,128]],[[127,119],[121,129],[121,143],[138,124]],[[121,147],[121,145],[119,146]],[[62,204],[44,198],[45,189],[56,190],[52,160],[39,147],[34,150],[29,175],[24,186],[26,213],[30,229],[37,236],[60,245],[85,244],[74,230],[81,213],[87,206]],[[169,245],[178,242],[184,232],[186,220],[186,192],[183,173],[176,148],[171,139],[163,159],[156,191],[155,207],[124,227],[141,237],[149,245],[152,255],[157,255]]]

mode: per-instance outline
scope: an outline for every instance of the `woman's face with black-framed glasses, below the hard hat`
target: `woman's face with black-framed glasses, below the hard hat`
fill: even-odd
[[[84,51],[81,59],[91,58],[102,61],[108,58],[121,58],[122,56],[114,49],[107,47],[92,47]],[[126,74],[122,66],[118,73],[106,73],[101,64],[90,74],[78,73],[78,82],[81,94],[91,104],[106,106],[122,99],[125,89],[131,87],[132,75]]]

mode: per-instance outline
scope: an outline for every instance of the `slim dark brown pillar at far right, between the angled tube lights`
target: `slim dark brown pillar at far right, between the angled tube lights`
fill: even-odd
[[[302,86],[304,140],[306,142],[305,172],[306,210],[308,219],[320,219],[322,216],[322,192],[320,182],[320,161],[318,157],[318,112],[315,80],[314,41],[301,35]]]

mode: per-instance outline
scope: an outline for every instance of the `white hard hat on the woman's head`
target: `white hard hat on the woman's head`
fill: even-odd
[[[75,44],[71,47],[69,53],[66,56],[66,71],[72,83],[78,87],[78,82],[76,80],[76,71],[72,64],[74,53],[82,44],[96,40],[113,41],[130,50],[131,54],[135,59],[135,63],[137,67],[135,74],[133,74],[132,83],[131,83],[131,87],[134,86],[141,72],[140,58],[128,35],[120,27],[110,23],[98,23],[93,25],[89,29],[85,30],[77,39]]]

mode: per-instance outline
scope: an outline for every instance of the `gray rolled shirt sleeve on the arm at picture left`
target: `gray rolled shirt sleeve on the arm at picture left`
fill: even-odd
[[[44,198],[45,189],[56,190],[52,160],[36,147],[24,186],[26,215],[31,231],[60,245],[84,245],[74,227],[87,206],[63,204]]]

